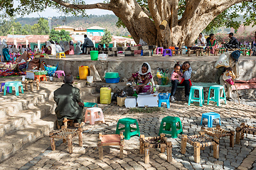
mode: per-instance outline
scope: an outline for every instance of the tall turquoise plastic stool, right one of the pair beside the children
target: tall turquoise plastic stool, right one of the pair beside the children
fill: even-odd
[[[210,97],[210,90],[213,89],[214,90],[214,96]],[[220,97],[220,90],[223,90],[223,97]],[[208,101],[207,104],[209,105],[209,101],[214,101],[217,102],[217,106],[220,106],[220,101],[225,101],[225,104],[227,103],[227,99],[225,96],[225,89],[224,86],[221,85],[214,85],[214,86],[210,86],[209,89],[209,94],[208,94]]]

